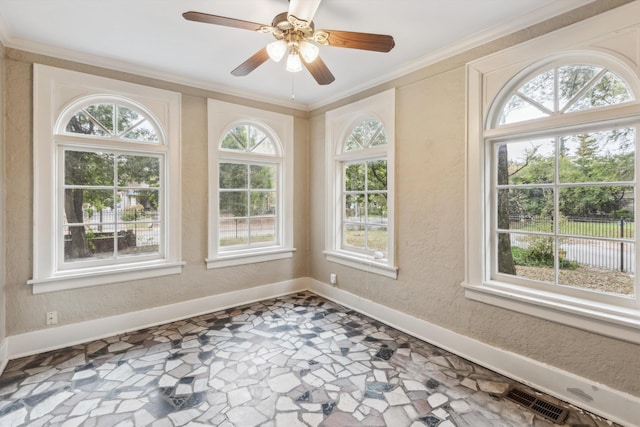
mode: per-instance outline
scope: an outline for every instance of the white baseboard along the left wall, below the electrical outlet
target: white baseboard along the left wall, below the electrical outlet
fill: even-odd
[[[307,278],[287,280],[117,316],[12,335],[7,337],[3,344],[7,355],[5,359],[30,356],[243,304],[264,301],[306,290],[307,282]],[[0,347],[0,357],[1,351],[2,347]]]

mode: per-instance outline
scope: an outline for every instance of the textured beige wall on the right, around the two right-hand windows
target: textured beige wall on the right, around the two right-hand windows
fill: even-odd
[[[597,3],[589,9],[591,12],[597,11],[604,2]],[[583,15],[572,15],[573,19],[582,19],[580,16],[584,17],[586,11],[581,13]],[[346,291],[640,396],[639,345],[473,302],[464,297],[460,286],[464,279],[464,63],[480,54],[511,45],[523,34],[545,32],[548,31],[545,28],[553,25],[562,26],[568,19],[563,17],[531,28],[526,33],[435,64],[380,88],[397,87],[398,280],[325,260],[322,254],[325,122],[321,114],[324,110],[312,112],[310,274],[328,282],[329,274],[335,272],[339,287]]]

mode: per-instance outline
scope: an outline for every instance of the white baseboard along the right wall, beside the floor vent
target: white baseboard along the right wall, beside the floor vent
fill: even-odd
[[[308,279],[307,287],[317,295],[608,420],[625,426],[637,425],[640,398],[636,396],[522,355],[492,347],[312,278]]]

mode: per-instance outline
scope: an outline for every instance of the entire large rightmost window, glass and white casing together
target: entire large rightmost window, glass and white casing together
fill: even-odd
[[[469,65],[466,295],[640,342],[640,74],[583,30]]]

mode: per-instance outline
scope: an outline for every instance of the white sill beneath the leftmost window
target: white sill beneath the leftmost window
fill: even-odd
[[[69,270],[50,277],[31,279],[34,294],[86,288],[110,283],[128,282],[152,277],[169,276],[182,273],[184,262],[146,262],[117,267],[98,267],[82,270]]]

